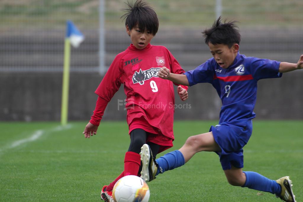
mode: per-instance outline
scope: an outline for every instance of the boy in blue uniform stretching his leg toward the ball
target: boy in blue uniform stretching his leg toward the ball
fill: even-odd
[[[282,73],[302,69],[303,55],[297,64],[293,64],[239,54],[241,35],[235,23],[226,20],[221,23],[220,17],[211,28],[202,32],[213,57],[195,70],[173,74],[162,67],[158,72],[159,77],[186,86],[211,83],[222,101],[220,120],[218,125],[211,126],[209,132],[189,137],[179,150],[157,160],[153,160],[148,145],[143,145],[140,153],[143,165],[141,177],[151,181],[159,173],[184,165],[199,151],[215,151],[231,185],[270,192],[284,201],[295,201],[288,176],[275,181],[256,172],[242,171],[242,148],[252,133],[257,81],[278,78]]]

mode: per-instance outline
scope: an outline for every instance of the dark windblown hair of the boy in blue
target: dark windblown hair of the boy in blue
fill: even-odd
[[[226,44],[228,47],[232,47],[234,44],[240,44],[241,34],[239,33],[238,26],[235,24],[238,21],[229,21],[221,23],[221,16],[214,22],[211,28],[205,29],[202,34],[205,37],[205,43],[211,44]]]

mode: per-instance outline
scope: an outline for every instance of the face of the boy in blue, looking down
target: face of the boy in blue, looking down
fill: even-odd
[[[226,44],[214,45],[212,43],[208,43],[208,47],[218,65],[224,69],[227,69],[233,64],[239,50],[238,44],[234,44],[229,48]]]

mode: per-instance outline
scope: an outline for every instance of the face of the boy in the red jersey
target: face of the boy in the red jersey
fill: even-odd
[[[133,27],[131,30],[126,26],[126,32],[131,37],[132,43],[138,49],[145,48],[154,37],[150,31],[145,29],[143,33],[138,27]]]

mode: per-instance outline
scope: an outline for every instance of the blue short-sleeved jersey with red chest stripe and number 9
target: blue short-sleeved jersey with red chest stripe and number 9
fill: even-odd
[[[221,68],[214,58],[207,60],[195,70],[185,72],[189,85],[211,83],[222,101],[220,121],[253,119],[257,97],[257,81],[281,77],[280,62],[237,54],[233,64]]]

